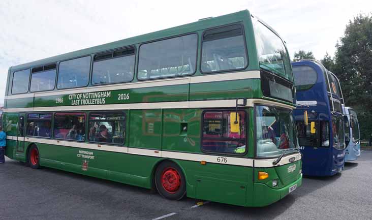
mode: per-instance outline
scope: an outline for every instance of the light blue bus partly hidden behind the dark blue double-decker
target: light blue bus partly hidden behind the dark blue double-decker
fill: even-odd
[[[344,107],[345,115],[345,162],[355,161],[360,156],[360,133],[357,113],[350,107]]]

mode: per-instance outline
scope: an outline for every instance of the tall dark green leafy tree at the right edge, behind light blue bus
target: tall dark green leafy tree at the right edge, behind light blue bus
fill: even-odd
[[[359,14],[336,44],[333,73],[340,80],[346,106],[358,113],[361,139],[372,134],[372,17]]]

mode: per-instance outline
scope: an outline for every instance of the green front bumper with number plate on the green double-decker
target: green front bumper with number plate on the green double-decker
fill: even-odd
[[[263,183],[254,183],[254,201],[253,206],[261,207],[270,205],[278,200],[283,199],[290,193],[290,188],[296,185],[296,189],[302,185],[302,174],[296,181],[288,184],[283,188],[271,188]],[[293,192],[293,191],[292,191]],[[292,193],[291,192],[291,193]]]

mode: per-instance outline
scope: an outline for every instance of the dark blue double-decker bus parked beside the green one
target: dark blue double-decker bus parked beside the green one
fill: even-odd
[[[292,63],[297,109],[294,116],[308,176],[331,176],[344,168],[344,99],[338,79],[316,60]]]

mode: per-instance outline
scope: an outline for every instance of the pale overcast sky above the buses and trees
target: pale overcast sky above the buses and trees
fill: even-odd
[[[326,3],[325,3],[326,2]],[[346,24],[372,1],[0,1],[0,104],[10,66],[248,9],[317,59],[333,56]]]

